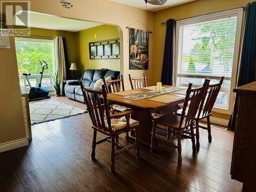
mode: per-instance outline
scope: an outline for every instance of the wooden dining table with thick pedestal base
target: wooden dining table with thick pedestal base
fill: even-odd
[[[162,90],[166,88],[177,87],[162,86]],[[139,93],[152,93],[153,89],[154,86],[151,86],[108,94],[108,101],[110,104],[119,104],[136,110],[136,113],[132,114],[132,119],[139,121],[139,140],[140,143],[147,146],[151,145],[151,132],[154,118],[152,114],[156,113],[164,115],[176,112],[180,109],[179,104],[184,102],[186,96],[186,88],[183,88],[180,91],[145,99],[132,100],[127,98],[127,96],[133,96]],[[134,137],[135,133],[131,132],[131,136]]]

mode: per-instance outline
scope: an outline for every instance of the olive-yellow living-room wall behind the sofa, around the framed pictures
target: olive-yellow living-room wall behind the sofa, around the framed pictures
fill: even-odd
[[[102,68],[120,71],[120,59],[89,59],[89,42],[119,38],[119,31],[115,26],[101,25],[78,31],[76,35],[79,56],[77,67],[80,73],[85,69]]]

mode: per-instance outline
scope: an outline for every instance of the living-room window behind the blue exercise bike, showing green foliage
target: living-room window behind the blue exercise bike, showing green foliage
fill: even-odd
[[[54,40],[18,38],[15,37],[15,47],[19,74],[19,84],[22,93],[29,91],[28,82],[23,73],[30,73],[31,86],[38,86],[40,81],[41,66],[39,60],[48,63],[48,69],[44,71],[41,86],[54,90],[54,82],[51,74],[55,73]]]

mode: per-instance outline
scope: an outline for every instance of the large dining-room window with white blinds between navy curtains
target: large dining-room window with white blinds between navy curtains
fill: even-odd
[[[175,66],[177,86],[201,86],[205,78],[224,83],[215,111],[230,114],[236,82],[242,9],[177,22]]]

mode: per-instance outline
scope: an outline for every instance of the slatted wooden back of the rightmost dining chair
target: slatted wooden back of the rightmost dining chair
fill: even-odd
[[[204,107],[201,109],[202,116],[206,116],[211,113],[211,110],[214,107],[215,101],[221,90],[223,80],[224,80],[224,77],[221,77],[221,80],[219,83],[209,85],[209,88],[208,88],[209,92],[207,95],[207,99],[205,101]]]

